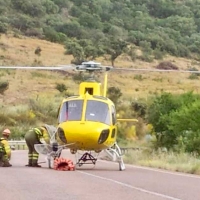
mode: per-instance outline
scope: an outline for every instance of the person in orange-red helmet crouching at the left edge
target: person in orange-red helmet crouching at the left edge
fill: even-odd
[[[0,166],[1,167],[11,167],[9,160],[11,158],[11,149],[8,143],[8,138],[10,136],[10,130],[5,129],[2,132],[2,137],[0,138]]]

